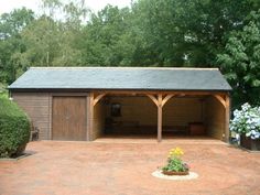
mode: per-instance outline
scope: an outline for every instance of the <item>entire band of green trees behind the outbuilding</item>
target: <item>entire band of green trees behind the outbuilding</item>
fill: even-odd
[[[256,0],[137,0],[94,13],[83,0],[42,0],[42,15],[0,17],[0,83],[30,66],[214,66],[235,89],[232,105],[260,104],[259,9]]]

